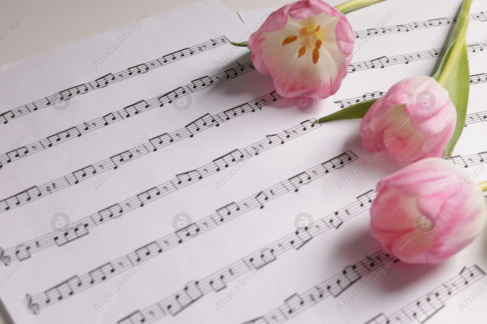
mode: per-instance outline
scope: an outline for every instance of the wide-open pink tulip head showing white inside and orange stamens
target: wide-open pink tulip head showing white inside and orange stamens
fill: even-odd
[[[301,0],[273,12],[252,34],[248,49],[262,74],[285,98],[337,92],[352,60],[354,32],[347,18],[321,0]]]

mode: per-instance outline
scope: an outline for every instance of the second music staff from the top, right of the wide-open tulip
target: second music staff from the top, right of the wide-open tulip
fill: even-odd
[[[468,52],[475,52],[477,50],[484,51],[487,48],[486,42],[471,43],[467,45]],[[384,68],[386,66],[396,65],[396,64],[409,64],[412,61],[426,60],[433,57],[441,57],[445,55],[447,51],[446,48],[442,49],[432,49],[430,51],[420,51],[416,53],[410,53],[406,55],[398,56],[381,56],[379,58],[364,61],[359,63],[352,63],[348,67],[348,73],[353,73],[359,70],[367,70],[371,68]]]

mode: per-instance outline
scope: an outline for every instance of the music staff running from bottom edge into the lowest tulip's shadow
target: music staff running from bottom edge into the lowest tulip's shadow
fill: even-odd
[[[343,291],[362,277],[375,271],[379,266],[384,267],[386,264],[389,265],[388,263],[397,261],[399,260],[379,250],[355,264],[345,266],[343,271],[321,281],[312,288],[291,295],[284,300],[281,306],[274,308],[265,315],[243,324],[284,323],[328,297],[337,298]]]

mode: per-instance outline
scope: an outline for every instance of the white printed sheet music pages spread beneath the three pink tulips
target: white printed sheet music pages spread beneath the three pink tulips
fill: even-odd
[[[470,294],[487,287],[485,232],[438,266],[388,256],[368,211],[403,165],[387,145],[364,151],[356,120],[313,125],[432,74],[461,1],[402,2],[347,14],[349,75],[311,108],[228,44],[272,10],[244,25],[214,0],[150,17],[101,66],[128,27],[0,67],[0,298],[14,323],[483,323],[487,295]],[[471,12],[451,163],[478,183],[487,1]]]

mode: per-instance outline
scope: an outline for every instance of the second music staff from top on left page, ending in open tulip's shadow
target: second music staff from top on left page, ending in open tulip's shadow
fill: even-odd
[[[11,163],[12,161],[19,160],[25,156],[40,152],[42,150],[46,150],[54,145],[92,132],[95,129],[111,125],[112,123],[115,123],[117,121],[130,118],[131,116],[140,115],[141,113],[149,111],[155,107],[162,107],[165,103],[171,103],[172,100],[180,96],[194,93],[211,85],[216,85],[225,80],[234,79],[237,76],[247,73],[249,71],[253,71],[254,69],[255,67],[252,62],[248,62],[243,65],[238,64],[237,67],[229,68],[221,73],[195,79],[191,81],[191,84],[180,86],[163,95],[156,96],[149,100],[141,100],[139,102],[135,102],[118,111],[109,113],[105,116],[90,120],[88,122],[83,122],[80,125],[68,128],[54,135],[47,136],[46,138],[41,139],[33,144],[29,144],[15,151],[2,154],[0,156],[0,168],[2,168],[7,163]],[[276,98],[278,98],[278,95],[276,95]]]

